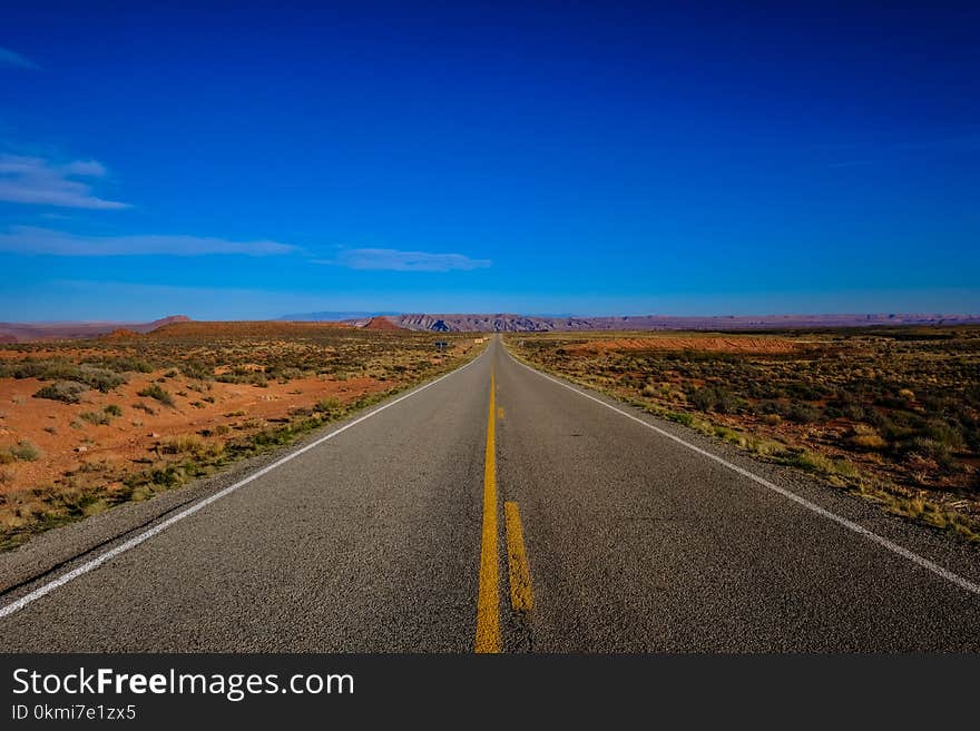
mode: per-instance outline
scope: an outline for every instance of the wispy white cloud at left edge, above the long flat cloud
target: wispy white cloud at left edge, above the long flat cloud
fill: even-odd
[[[0,155],[0,200],[62,208],[129,208],[129,204],[99,198],[88,181],[78,179],[105,175],[106,168],[97,160],[57,165],[39,157]]]

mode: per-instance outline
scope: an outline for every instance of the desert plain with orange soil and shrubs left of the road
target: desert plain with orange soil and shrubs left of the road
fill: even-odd
[[[147,334],[0,345],[0,549],[286,444],[477,347],[441,339],[437,350],[431,335],[388,320],[182,318]]]

